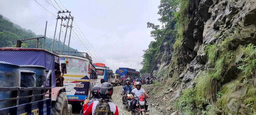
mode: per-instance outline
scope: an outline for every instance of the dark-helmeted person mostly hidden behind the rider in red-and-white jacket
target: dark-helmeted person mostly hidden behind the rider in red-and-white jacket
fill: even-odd
[[[94,85],[92,87],[92,98],[89,100],[89,103],[87,104],[87,106],[89,106],[93,101],[96,101],[96,100],[99,100],[100,99],[100,96],[99,96],[99,88],[100,88],[100,85],[97,84],[97,85]],[[84,106],[83,106],[84,107]],[[80,112],[81,115],[83,115],[83,107],[82,107],[82,110]]]

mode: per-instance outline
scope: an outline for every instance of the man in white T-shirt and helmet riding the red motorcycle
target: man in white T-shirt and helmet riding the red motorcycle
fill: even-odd
[[[145,90],[143,89],[143,88],[141,88],[141,82],[136,82],[136,88],[134,88],[133,90],[132,90],[132,92],[134,93],[134,96],[133,95],[131,95],[132,96],[132,100],[131,100],[131,102],[130,102],[130,104],[132,105],[131,106],[131,110],[134,110],[135,109],[135,106],[136,106],[136,104],[137,103],[139,103],[138,102],[138,98],[136,98],[136,99],[134,99],[135,97],[137,97],[137,96],[140,96],[140,95],[145,95],[145,96],[147,96],[148,98],[150,98],[150,96],[145,92]],[[145,103],[147,103],[147,101],[146,101],[146,99],[145,99]],[[147,105],[145,106],[145,109],[147,110]],[[132,112],[132,111],[131,111]]]

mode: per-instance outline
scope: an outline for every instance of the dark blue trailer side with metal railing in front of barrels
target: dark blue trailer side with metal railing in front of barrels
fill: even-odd
[[[12,103],[10,107],[0,108],[0,115],[50,115],[52,71],[46,72],[47,79],[42,87],[0,87],[0,92],[13,92],[13,94],[16,94],[12,98],[0,99],[0,103],[7,101]],[[27,92],[29,95],[20,96],[20,92]],[[28,102],[19,104],[21,99],[28,99]]]

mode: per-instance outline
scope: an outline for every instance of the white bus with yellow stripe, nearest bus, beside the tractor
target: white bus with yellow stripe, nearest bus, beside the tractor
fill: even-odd
[[[81,56],[59,55],[60,63],[66,63],[67,74],[64,74],[63,85],[69,103],[84,101],[91,93],[97,79],[96,68],[91,61]]]

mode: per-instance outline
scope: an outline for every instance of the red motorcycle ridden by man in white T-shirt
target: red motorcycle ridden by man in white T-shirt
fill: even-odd
[[[131,94],[135,95],[133,92]],[[145,103],[145,99],[148,97],[144,95],[140,95],[140,96],[137,96],[136,98],[138,98],[139,104],[136,104],[136,108],[135,110],[133,110],[135,112],[133,112],[132,115],[148,115],[146,114],[146,112],[148,112],[149,110],[145,109],[145,106],[148,106],[148,104]]]

